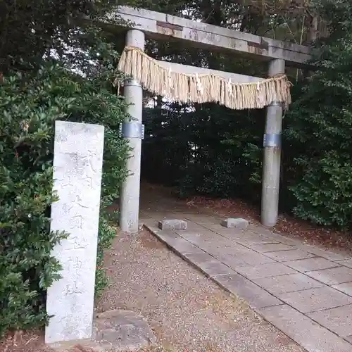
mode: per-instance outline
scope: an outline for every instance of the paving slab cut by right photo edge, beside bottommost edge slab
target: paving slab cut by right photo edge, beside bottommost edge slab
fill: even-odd
[[[308,317],[341,337],[352,335],[352,306],[337,307],[308,313]],[[352,349],[352,348],[351,348]]]

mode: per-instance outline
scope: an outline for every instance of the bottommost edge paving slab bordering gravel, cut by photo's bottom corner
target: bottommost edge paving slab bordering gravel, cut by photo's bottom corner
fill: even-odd
[[[286,304],[260,308],[257,311],[308,352],[352,351],[352,345],[344,339]]]

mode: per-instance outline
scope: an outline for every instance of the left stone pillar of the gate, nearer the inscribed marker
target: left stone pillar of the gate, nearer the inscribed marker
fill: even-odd
[[[144,32],[129,30],[126,34],[126,46],[137,46],[144,50]],[[134,120],[126,120],[122,123],[120,134],[127,139],[132,152],[127,160],[129,175],[122,184],[120,194],[120,229],[124,232],[138,232],[139,220],[139,191],[141,179],[141,152],[142,139],[144,137],[144,125],[142,125],[143,90],[136,80],[125,82],[125,100],[128,104],[127,113]]]

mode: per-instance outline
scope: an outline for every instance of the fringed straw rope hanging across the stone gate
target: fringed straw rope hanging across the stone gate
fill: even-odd
[[[235,110],[264,108],[272,101],[279,101],[288,108],[291,103],[292,84],[287,75],[259,82],[234,83],[218,75],[175,73],[134,46],[125,47],[118,70],[133,77],[149,92],[182,103],[216,102]]]

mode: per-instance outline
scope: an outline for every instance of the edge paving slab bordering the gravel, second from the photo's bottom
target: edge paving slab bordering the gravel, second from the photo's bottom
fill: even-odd
[[[243,298],[253,309],[282,304],[282,301],[237,273],[216,275],[212,279],[226,291]]]

